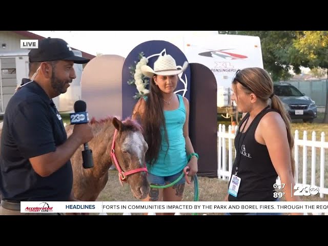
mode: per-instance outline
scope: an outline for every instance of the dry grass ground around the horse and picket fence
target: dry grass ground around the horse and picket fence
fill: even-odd
[[[319,115],[318,115],[319,116]],[[319,117],[323,118],[323,114]],[[303,131],[308,131],[308,139],[310,133],[312,131],[318,133],[324,132],[326,135],[328,134],[328,124],[321,124],[319,123],[320,120],[322,121],[322,118],[315,120],[312,124],[310,123],[303,123],[299,122],[299,120],[295,120],[292,123],[292,132],[294,133],[295,130],[299,130],[299,137],[303,137]],[[228,126],[230,125],[230,120],[225,120],[222,118],[218,118],[218,125],[224,124],[226,125],[226,128],[228,129]],[[294,135],[294,134],[293,134]],[[317,139],[319,139],[317,137]],[[228,141],[227,141],[228,146]],[[328,151],[326,151],[328,152]],[[302,147],[299,147],[299,181],[302,181]],[[320,152],[317,150],[316,152],[316,159],[317,163],[319,163],[319,157],[318,154]],[[233,155],[234,156],[234,155]],[[328,153],[326,153],[326,160],[328,160]],[[327,161],[326,161],[327,162]],[[319,179],[319,165],[316,166],[316,178],[318,185],[318,179]],[[325,170],[328,171],[328,164],[326,165]],[[328,173],[325,173],[325,183],[328,183]],[[308,173],[307,173],[307,181],[308,183],[311,183],[311,148],[308,148]],[[198,192],[199,192],[199,201],[223,201],[224,197],[227,194],[227,188],[228,188],[228,181],[227,180],[221,180],[218,178],[208,178],[208,177],[198,177]],[[319,194],[316,196],[309,196],[305,197],[302,196],[300,198],[302,201],[328,201],[328,195],[324,195],[323,198],[320,198]],[[120,186],[120,183],[118,181],[117,177],[117,171],[109,171],[109,180],[105,187],[105,189],[100,193],[98,201],[138,201],[136,198],[133,197],[130,187],[128,185],[125,185],[124,187]],[[193,201],[194,200],[194,186],[192,185],[186,185],[185,192],[183,194],[182,201]],[[282,198],[282,200],[285,200]],[[110,213],[108,213],[110,215]],[[116,214],[117,215],[117,214]],[[132,214],[132,215],[139,215],[139,214]],[[221,213],[211,213],[209,215],[222,215]]]

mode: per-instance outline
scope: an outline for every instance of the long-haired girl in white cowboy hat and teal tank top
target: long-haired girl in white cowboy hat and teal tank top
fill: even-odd
[[[141,66],[141,72],[150,78],[150,92],[141,97],[132,113],[133,119],[141,121],[148,144],[146,163],[148,181],[163,186],[175,181],[189,166],[189,176],[197,173],[198,156],[189,138],[189,101],[176,94],[178,74],[188,67],[177,69],[171,55],[159,56],[154,69]],[[191,156],[188,161],[188,156]],[[197,156],[197,157],[196,157]],[[145,201],[181,201],[186,179],[165,189],[151,188]]]

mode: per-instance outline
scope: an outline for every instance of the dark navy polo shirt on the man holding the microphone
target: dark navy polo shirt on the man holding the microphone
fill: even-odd
[[[1,136],[0,192],[16,201],[67,201],[73,172],[70,160],[48,177],[34,172],[29,158],[56,150],[67,140],[52,99],[37,83],[26,80],[9,100]]]

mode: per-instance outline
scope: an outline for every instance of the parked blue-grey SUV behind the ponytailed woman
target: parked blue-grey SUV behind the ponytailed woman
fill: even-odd
[[[312,123],[317,117],[315,101],[305,96],[295,86],[289,83],[276,83],[274,93],[279,96],[292,119],[303,119],[303,122]]]

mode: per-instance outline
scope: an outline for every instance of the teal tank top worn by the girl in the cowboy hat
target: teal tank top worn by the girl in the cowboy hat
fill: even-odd
[[[164,110],[166,129],[168,134],[169,146],[165,138],[165,131],[161,127],[161,148],[158,159],[147,168],[150,173],[157,176],[170,176],[176,174],[187,165],[186,141],[183,136],[183,125],[186,122],[186,108],[181,95],[177,94],[179,108],[175,110]],[[144,97],[147,100],[147,97]]]

